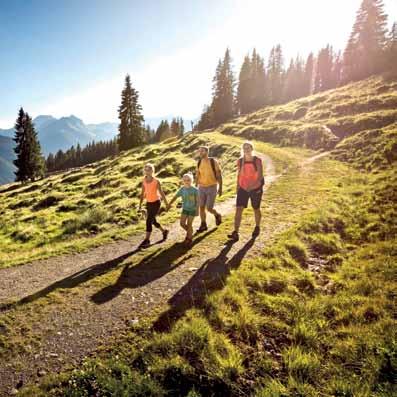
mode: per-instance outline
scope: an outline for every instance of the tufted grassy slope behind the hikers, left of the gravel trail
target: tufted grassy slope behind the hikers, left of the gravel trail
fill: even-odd
[[[210,145],[211,155],[220,158],[227,198],[234,191],[234,165],[241,140],[219,134],[190,135],[149,145],[25,186],[2,187],[0,267],[78,251],[142,231],[144,222],[137,206],[143,165],[154,163],[166,194],[171,195],[182,174],[194,171],[194,156],[201,144]],[[288,164],[280,150],[262,148],[271,152],[280,169]],[[176,214],[174,210],[162,219],[171,221]]]

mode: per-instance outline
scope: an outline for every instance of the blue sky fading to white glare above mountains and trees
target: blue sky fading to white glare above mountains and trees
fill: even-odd
[[[0,0],[0,128],[33,116],[117,119],[126,73],[147,117],[197,117],[229,46],[236,72],[267,57],[343,48],[361,0]],[[385,0],[390,20],[397,1]]]

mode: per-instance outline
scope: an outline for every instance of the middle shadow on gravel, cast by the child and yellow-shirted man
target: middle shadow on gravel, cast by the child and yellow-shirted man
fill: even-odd
[[[207,233],[199,235],[193,240],[193,245],[198,244],[216,229],[209,230]],[[106,303],[114,299],[125,288],[138,288],[163,277],[168,272],[174,270],[191,255],[182,257],[180,261],[174,263],[178,258],[186,254],[190,248],[181,243],[175,243],[170,247],[154,252],[148,257],[143,258],[138,264],[130,267],[127,264],[121,272],[116,283],[109,285],[91,297],[91,301],[97,305]]]

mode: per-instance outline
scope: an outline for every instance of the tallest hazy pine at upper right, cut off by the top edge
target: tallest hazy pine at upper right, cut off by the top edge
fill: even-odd
[[[355,81],[384,68],[387,16],[382,0],[363,0],[343,58],[344,81]]]

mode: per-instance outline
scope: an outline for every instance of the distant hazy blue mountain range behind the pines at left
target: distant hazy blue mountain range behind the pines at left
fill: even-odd
[[[171,121],[173,116],[152,117],[145,120],[145,124],[156,129],[161,120]],[[56,153],[58,150],[67,150],[72,145],[78,143],[84,147],[92,141],[108,141],[115,138],[118,134],[118,123],[85,124],[83,120],[76,116],[61,117],[59,119],[41,115],[33,119],[36,131],[39,136],[41,148],[44,156],[49,153]],[[184,120],[185,130],[191,130],[191,120]],[[14,128],[0,128],[0,184],[14,180],[14,165],[12,160],[15,158],[13,146]]]

